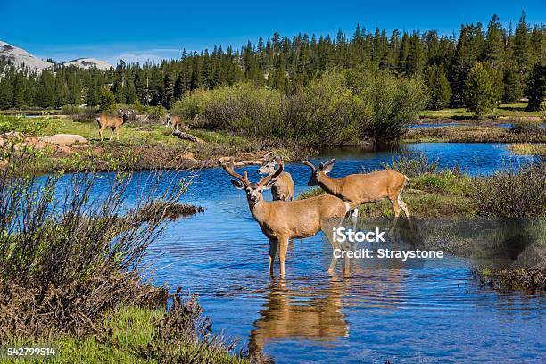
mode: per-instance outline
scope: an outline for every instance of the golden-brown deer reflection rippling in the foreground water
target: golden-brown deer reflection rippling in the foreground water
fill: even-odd
[[[353,265],[343,277],[319,277],[294,281],[271,280],[267,302],[254,321],[248,349],[261,355],[264,346],[289,338],[333,341],[349,337],[350,327],[343,309],[383,307],[397,310],[404,302],[401,269],[373,269]],[[382,297],[377,300],[377,297]]]

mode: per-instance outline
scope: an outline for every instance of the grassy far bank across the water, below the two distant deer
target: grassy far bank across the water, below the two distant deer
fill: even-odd
[[[41,172],[93,170],[157,170],[215,166],[220,157],[235,155],[236,161],[261,160],[269,151],[283,155],[285,161],[299,160],[309,155],[310,148],[278,140],[247,138],[224,131],[194,128],[188,131],[203,143],[194,143],[172,136],[162,124],[128,122],[120,129],[120,140],[114,136],[100,141],[95,121],[70,119],[27,119],[0,116],[0,132],[18,131],[25,137],[49,136],[57,133],[74,134],[87,139],[78,148],[37,151],[36,168]],[[24,144],[21,137],[18,141]]]

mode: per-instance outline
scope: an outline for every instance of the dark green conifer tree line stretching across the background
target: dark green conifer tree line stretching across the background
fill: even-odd
[[[428,109],[465,106],[479,113],[524,96],[534,97],[529,107],[536,109],[543,97],[545,60],[546,26],[529,24],[524,12],[516,29],[511,24],[504,28],[493,15],[487,27],[480,22],[462,25],[458,37],[441,36],[436,30],[395,29],[387,35],[385,29],[368,31],[357,25],[352,37],[341,30],[335,38],[307,34],[289,38],[275,33],[240,49],[185,50],[178,60],[159,64],[120,61],[105,71],[58,66],[36,74],[16,70],[3,61],[0,108],[98,105],[101,90],[108,89],[116,103],[170,109],[196,89],[251,81],[294,95],[326,70],[359,69],[385,70],[400,79],[423,79]],[[484,100],[476,102],[476,95]]]

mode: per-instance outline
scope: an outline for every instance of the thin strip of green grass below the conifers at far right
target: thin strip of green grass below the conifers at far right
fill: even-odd
[[[544,112],[528,112],[525,110],[527,103],[502,103],[496,109],[488,112],[484,117],[529,117],[529,116],[544,116]],[[420,114],[426,118],[445,118],[445,119],[473,119],[476,114],[467,111],[464,107],[447,108],[442,110],[425,110]]]

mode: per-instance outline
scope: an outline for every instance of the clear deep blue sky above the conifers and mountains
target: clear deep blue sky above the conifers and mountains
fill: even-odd
[[[42,58],[96,57],[116,63],[178,58],[181,50],[239,47],[259,37],[297,33],[347,35],[366,29],[458,32],[460,24],[493,13],[517,23],[546,23],[544,0],[535,1],[117,1],[0,0],[0,40]]]

